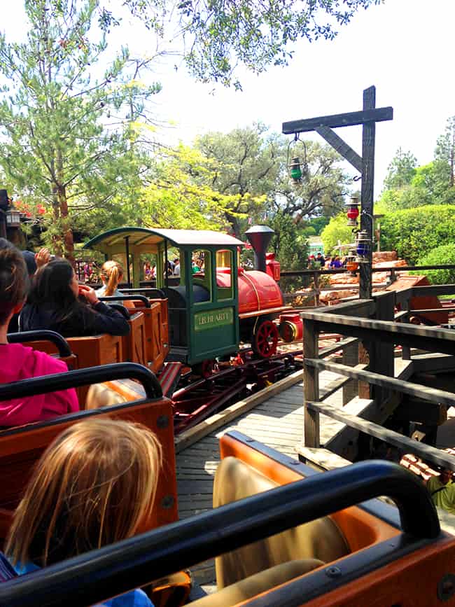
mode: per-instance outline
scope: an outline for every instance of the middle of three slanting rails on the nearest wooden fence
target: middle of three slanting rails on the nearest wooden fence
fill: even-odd
[[[385,377],[384,375],[379,375],[379,373],[358,370],[346,365],[340,365],[339,363],[320,361],[318,358],[305,358],[305,366],[320,370],[332,371],[332,373],[338,373],[339,375],[344,375],[344,377],[361,379],[363,382],[374,384],[374,386],[390,388],[391,390],[395,390],[403,394],[409,394],[410,396],[423,398],[423,400],[429,400],[430,403],[442,403],[448,407],[455,405],[455,394],[453,392],[438,390],[436,388],[428,388],[427,386],[422,386],[421,384],[405,382],[402,379],[395,379],[394,377]],[[311,447],[311,445],[309,446]]]

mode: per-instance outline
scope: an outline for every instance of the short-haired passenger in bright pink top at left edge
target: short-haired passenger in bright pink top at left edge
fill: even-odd
[[[66,363],[49,354],[8,344],[8,323],[13,314],[20,312],[27,295],[27,267],[20,251],[8,243],[0,249],[0,383],[8,384],[19,379],[51,375],[68,370]],[[27,398],[13,398],[0,402],[0,426],[21,426],[31,421],[52,419],[78,411],[78,397],[74,389]]]

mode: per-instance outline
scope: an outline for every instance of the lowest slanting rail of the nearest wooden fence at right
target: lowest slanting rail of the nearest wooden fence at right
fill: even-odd
[[[444,466],[444,468],[455,471],[455,456],[449,455],[440,449],[430,447],[430,445],[424,445],[418,440],[408,438],[398,432],[383,428],[378,424],[374,424],[372,421],[360,419],[356,415],[345,413],[344,410],[332,407],[332,405],[327,405],[325,403],[307,403],[307,407],[314,409],[323,415],[328,415],[328,417],[331,417],[332,419],[337,419],[337,421],[341,421],[342,424],[346,424],[346,426],[351,426],[351,428],[356,428],[356,430],[360,432],[365,432],[365,434],[379,438],[379,440],[384,440],[384,442],[387,442],[394,447],[398,447],[398,449],[403,449],[405,452],[416,454],[426,461],[435,463],[437,466]]]

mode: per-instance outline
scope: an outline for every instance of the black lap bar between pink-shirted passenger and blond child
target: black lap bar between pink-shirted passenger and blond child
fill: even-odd
[[[99,367],[76,369],[67,373],[55,373],[20,379],[18,382],[0,385],[0,400],[34,396],[68,388],[78,388],[100,382],[111,382],[113,379],[137,379],[144,386],[147,398],[160,398],[162,389],[155,374],[144,365],[137,363],[113,363]],[[1,604],[1,603],[0,603]]]

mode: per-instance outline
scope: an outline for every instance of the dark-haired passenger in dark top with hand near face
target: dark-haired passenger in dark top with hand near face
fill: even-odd
[[[66,259],[52,260],[36,272],[19,326],[21,331],[50,329],[64,337],[127,335],[130,330],[120,312],[100,302],[90,286],[78,284]]]

